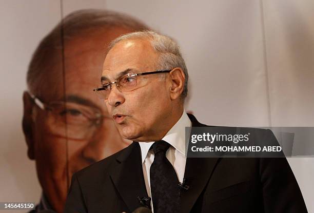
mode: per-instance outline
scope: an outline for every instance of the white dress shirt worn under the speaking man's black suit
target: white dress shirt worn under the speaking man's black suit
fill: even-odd
[[[183,182],[186,154],[185,154],[185,127],[191,127],[191,121],[186,114],[185,110],[181,115],[181,118],[174,126],[166,133],[162,139],[169,143],[171,146],[166,152],[166,158],[172,164],[179,182]],[[139,142],[142,152],[142,166],[145,180],[145,186],[148,196],[151,197],[150,192],[150,166],[154,161],[154,153],[149,150],[153,142]],[[150,206],[153,211],[152,199],[150,200]]]

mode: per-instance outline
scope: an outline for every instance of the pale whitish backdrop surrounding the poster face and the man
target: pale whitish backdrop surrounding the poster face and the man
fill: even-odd
[[[34,163],[21,128],[27,66],[60,21],[55,0],[0,1],[0,201],[38,201]],[[64,14],[108,8],[175,38],[190,75],[187,110],[229,126],[314,126],[314,1],[64,0]],[[312,153],[314,150],[312,150]],[[314,160],[288,159],[314,212]]]

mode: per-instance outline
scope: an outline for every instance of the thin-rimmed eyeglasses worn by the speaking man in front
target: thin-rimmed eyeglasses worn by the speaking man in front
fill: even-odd
[[[157,70],[153,72],[142,72],[142,73],[136,73],[136,74],[128,73],[120,77],[119,79],[117,79],[115,82],[103,83],[102,87],[95,88],[93,89],[93,91],[95,91],[101,99],[108,99],[108,96],[110,94],[113,84],[116,85],[119,91],[128,92],[128,91],[132,91],[141,87],[141,83],[138,80],[139,76],[141,75],[156,74],[156,73],[169,73],[169,72],[171,72],[171,70]]]

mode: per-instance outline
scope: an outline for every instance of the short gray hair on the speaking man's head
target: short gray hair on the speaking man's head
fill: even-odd
[[[133,38],[143,38],[150,41],[152,48],[159,54],[158,62],[156,63],[156,69],[171,70],[175,67],[180,67],[183,70],[185,81],[181,98],[184,100],[188,92],[189,75],[185,61],[180,52],[180,46],[168,36],[145,30],[141,32],[127,33],[115,38],[115,40],[109,44],[107,51],[109,52],[110,49],[112,49],[113,46],[118,42],[132,40]]]

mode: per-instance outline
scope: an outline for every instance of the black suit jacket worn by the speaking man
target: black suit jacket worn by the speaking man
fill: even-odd
[[[180,212],[307,212],[285,158],[187,158],[184,177]],[[141,148],[133,142],[73,175],[65,212],[131,212],[143,197]]]

